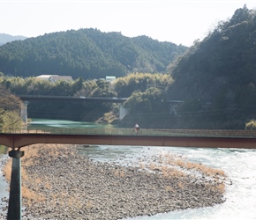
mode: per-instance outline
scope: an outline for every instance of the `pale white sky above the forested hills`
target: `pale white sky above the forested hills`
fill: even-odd
[[[255,0],[0,0],[0,33],[37,37],[97,28],[192,46]]]

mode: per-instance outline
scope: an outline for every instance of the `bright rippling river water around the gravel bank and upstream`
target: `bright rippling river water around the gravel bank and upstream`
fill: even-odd
[[[34,120],[30,126],[34,128],[41,126],[95,128],[103,125],[74,121]],[[141,152],[148,155],[171,153],[188,158],[192,162],[222,169],[228,176],[230,184],[226,186],[226,202],[215,207],[173,211],[156,216],[139,216],[129,220],[256,219],[256,150],[101,145],[94,146],[94,148],[86,148],[80,153],[98,161],[107,160],[129,164],[137,159],[139,160]],[[8,187],[4,179],[0,179],[0,185],[1,188]],[[2,198],[6,196],[6,192],[4,190],[0,191],[0,195]]]

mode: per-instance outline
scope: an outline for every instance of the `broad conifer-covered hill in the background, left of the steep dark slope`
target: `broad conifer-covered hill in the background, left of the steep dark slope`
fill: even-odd
[[[70,30],[4,44],[0,72],[14,77],[57,74],[74,79],[123,77],[136,71],[162,73],[186,49],[147,36],[128,38],[92,28]]]

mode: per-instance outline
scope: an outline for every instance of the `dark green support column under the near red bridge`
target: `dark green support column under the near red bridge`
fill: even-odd
[[[11,150],[9,157],[12,158],[11,165],[11,187],[9,196],[9,206],[7,219],[21,219],[21,163],[20,158],[24,156],[24,151]]]

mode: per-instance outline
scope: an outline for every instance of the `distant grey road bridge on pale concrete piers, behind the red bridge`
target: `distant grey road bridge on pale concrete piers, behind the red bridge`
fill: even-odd
[[[119,119],[123,119],[128,114],[128,109],[124,108],[123,103],[128,98],[107,98],[107,97],[72,97],[72,96],[45,96],[45,95],[18,95],[19,99],[23,101],[21,109],[21,118],[23,121],[27,121],[27,105],[29,101],[77,101],[77,102],[110,102],[119,104]]]

